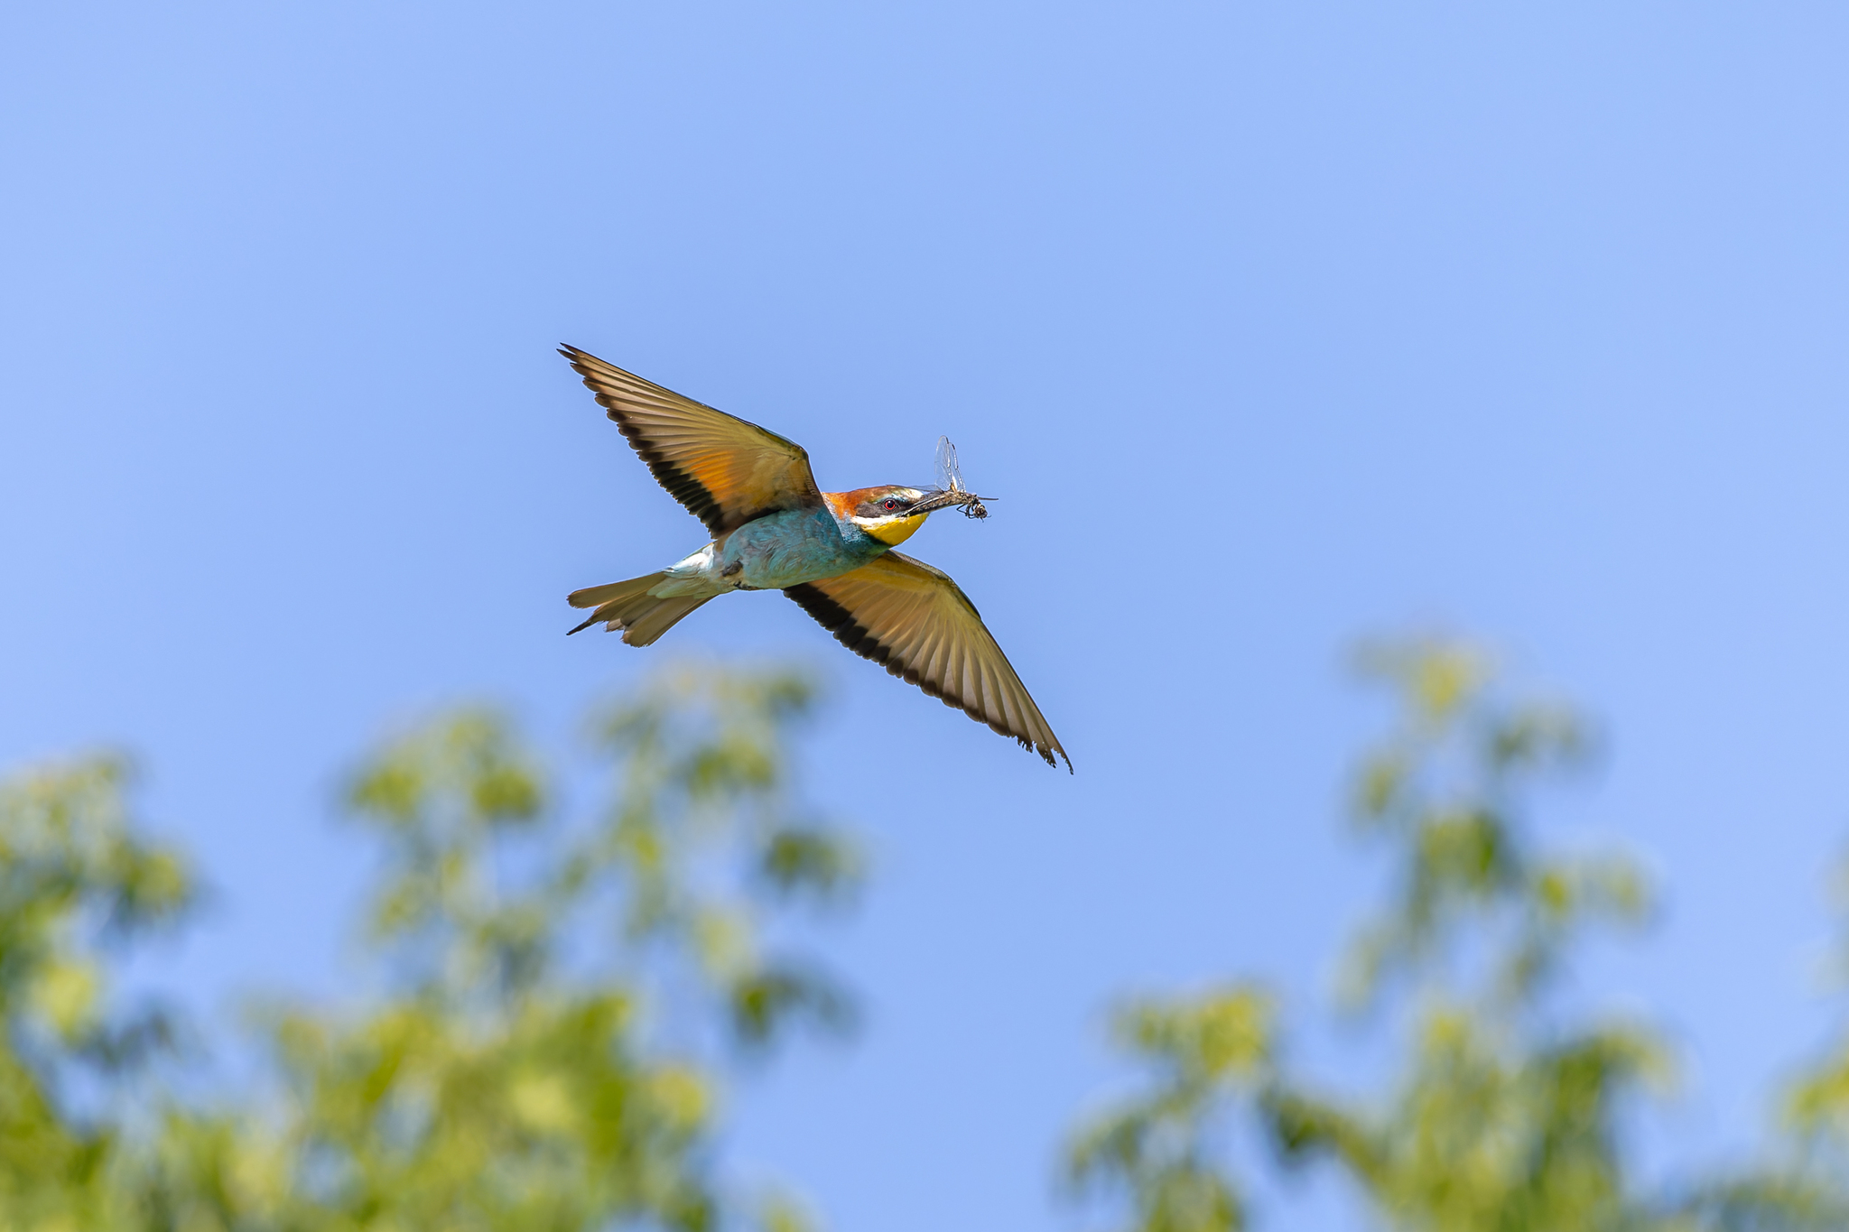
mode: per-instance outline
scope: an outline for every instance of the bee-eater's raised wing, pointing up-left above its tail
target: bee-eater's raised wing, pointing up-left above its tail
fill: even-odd
[[[808,451],[577,347],[558,347],[662,488],[719,536],[777,510],[821,506]]]

